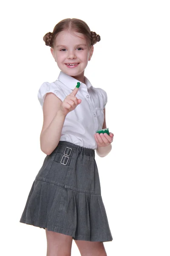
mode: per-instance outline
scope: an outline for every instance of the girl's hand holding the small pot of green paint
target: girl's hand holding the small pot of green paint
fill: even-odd
[[[110,145],[113,142],[113,136],[114,134],[110,132],[110,135],[107,133],[99,134],[98,132],[94,134],[94,138],[96,140],[96,143],[98,147],[106,147]]]

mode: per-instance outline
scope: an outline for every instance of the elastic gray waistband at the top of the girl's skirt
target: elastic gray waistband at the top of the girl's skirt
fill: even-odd
[[[73,151],[72,150],[76,150],[79,151],[80,154],[85,154],[88,156],[95,156],[95,151],[92,148],[84,148],[81,147],[79,145],[76,145],[74,143],[65,141],[65,140],[60,140],[57,147],[54,149],[55,151],[59,151],[63,154],[65,154],[66,156],[72,155]]]

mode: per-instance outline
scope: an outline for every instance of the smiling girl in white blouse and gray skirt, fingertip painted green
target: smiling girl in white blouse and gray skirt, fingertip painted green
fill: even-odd
[[[65,19],[43,40],[61,71],[38,91],[43,110],[40,147],[46,157],[20,222],[45,229],[47,256],[71,255],[72,239],[82,256],[106,256],[103,242],[113,238],[95,150],[106,156],[113,134],[96,133],[106,128],[107,94],[84,76],[100,36],[82,20]]]

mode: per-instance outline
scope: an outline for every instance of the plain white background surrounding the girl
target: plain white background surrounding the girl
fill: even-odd
[[[45,154],[40,85],[59,75],[42,40],[65,18],[101,36],[85,76],[108,93],[112,151],[96,155],[113,241],[108,256],[170,256],[168,1],[8,1],[0,6],[3,256],[46,256],[45,230],[20,223]],[[2,241],[2,240],[1,240]],[[79,256],[73,241],[72,255]]]

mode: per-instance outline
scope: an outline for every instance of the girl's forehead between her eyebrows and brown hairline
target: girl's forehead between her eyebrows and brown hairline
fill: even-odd
[[[85,36],[78,32],[61,31],[56,37],[55,44],[87,44]]]

